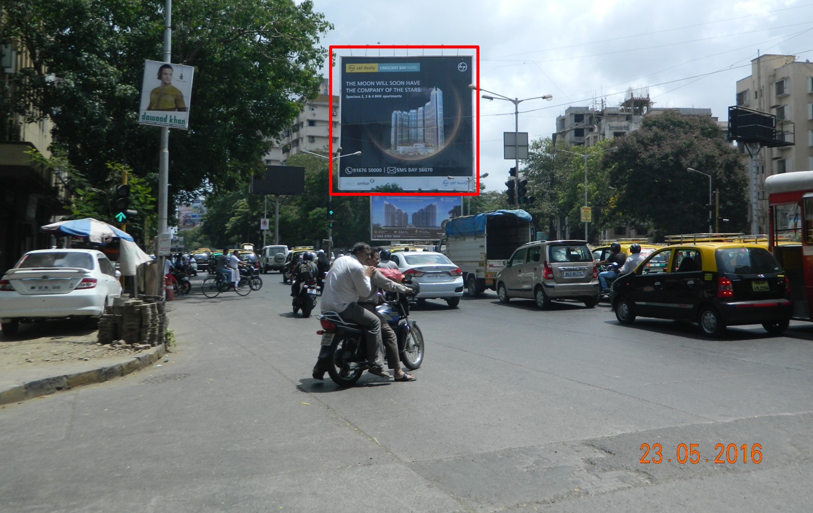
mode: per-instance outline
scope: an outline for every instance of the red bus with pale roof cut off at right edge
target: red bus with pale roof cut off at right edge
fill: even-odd
[[[793,319],[813,320],[813,171],[768,176],[768,250],[785,269]]]

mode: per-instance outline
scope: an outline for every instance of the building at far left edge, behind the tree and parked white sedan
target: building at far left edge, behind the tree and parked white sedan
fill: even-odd
[[[14,75],[32,67],[28,54],[15,41],[0,45],[0,104],[9,105],[16,91]],[[63,176],[31,162],[25,154],[37,150],[50,156],[51,123],[26,123],[22,116],[0,111],[0,273],[13,266],[26,251],[50,246],[40,233],[54,216],[66,215],[67,190]]]

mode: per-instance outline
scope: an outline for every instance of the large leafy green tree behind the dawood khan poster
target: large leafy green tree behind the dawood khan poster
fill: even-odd
[[[91,183],[112,162],[154,172],[159,129],[137,124],[138,89],[144,60],[163,60],[163,0],[0,1],[0,40],[31,57],[0,89],[0,115],[49,117],[55,146]],[[318,42],[333,27],[310,0],[176,0],[172,10],[172,62],[195,76],[189,130],[170,137],[171,193],[231,189],[315,97],[327,57]]]

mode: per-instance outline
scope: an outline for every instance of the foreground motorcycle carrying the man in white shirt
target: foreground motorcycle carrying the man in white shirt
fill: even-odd
[[[409,285],[418,292],[418,285]],[[415,370],[424,362],[424,335],[409,317],[409,300],[404,293],[388,293],[384,304],[376,307],[398,340],[398,355],[404,366]],[[319,359],[327,367],[330,379],[339,386],[353,385],[367,369],[367,340],[364,329],[342,320],[335,311],[319,316],[322,336]],[[324,368],[323,367],[323,368]]]

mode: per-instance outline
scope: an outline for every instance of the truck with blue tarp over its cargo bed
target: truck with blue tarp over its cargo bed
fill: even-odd
[[[499,210],[446,220],[438,250],[463,271],[468,294],[494,290],[494,278],[514,250],[532,241],[533,219],[524,210]]]

